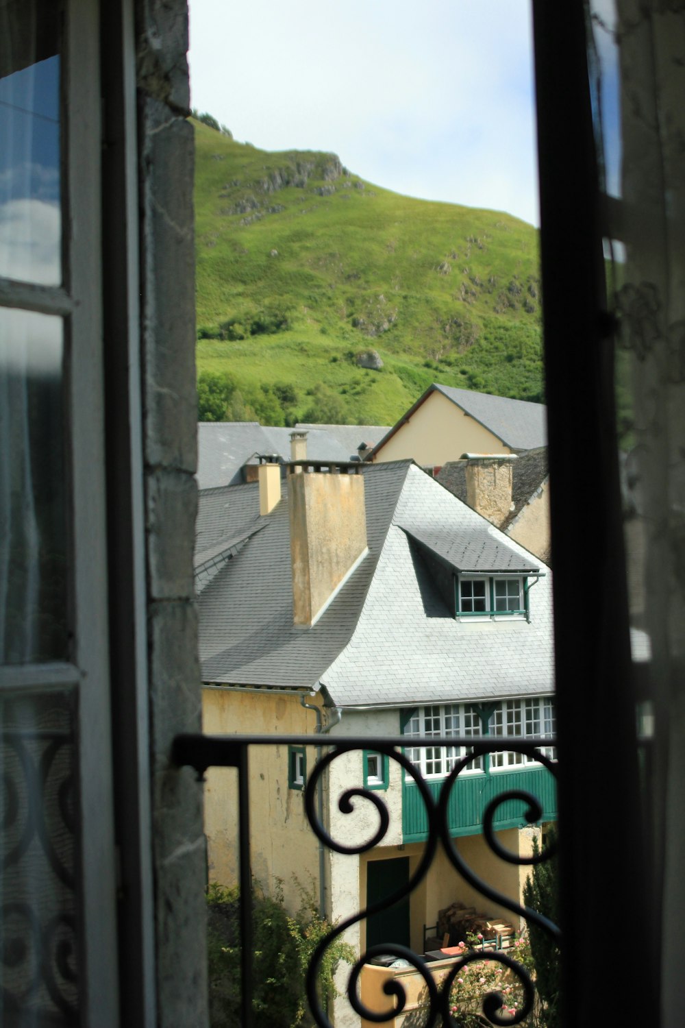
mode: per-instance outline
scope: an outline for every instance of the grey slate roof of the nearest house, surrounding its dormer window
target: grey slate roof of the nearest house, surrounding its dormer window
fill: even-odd
[[[412,462],[365,465],[363,473],[369,554],[311,628],[293,626],[284,483],[283,498],[265,518],[258,514],[257,483],[200,493],[198,556],[220,542],[222,530],[225,539],[250,533],[198,595],[203,681],[321,688],[341,707],[551,692],[551,582],[544,565]],[[489,563],[504,570],[505,560],[509,571],[540,568],[545,577],[531,590],[530,623],[455,620],[426,552],[483,560],[482,571]]]

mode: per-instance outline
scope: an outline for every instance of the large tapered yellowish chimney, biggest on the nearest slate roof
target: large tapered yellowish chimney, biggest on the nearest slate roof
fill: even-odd
[[[364,476],[358,470],[358,464],[324,462],[289,468],[296,625],[316,621],[367,553]]]

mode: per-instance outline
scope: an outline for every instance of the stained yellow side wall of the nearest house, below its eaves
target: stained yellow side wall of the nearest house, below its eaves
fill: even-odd
[[[308,703],[317,698],[307,697]],[[202,690],[202,731],[207,734],[313,734],[316,715],[300,704],[300,695],[239,693],[230,688]],[[307,747],[307,774],[316,750]],[[253,879],[272,894],[282,881],[286,904],[300,906],[295,877],[318,898],[318,843],[304,812],[304,793],[291,788],[288,746],[253,746],[249,754],[251,867]],[[210,881],[235,885],[238,880],[237,771],[210,768],[204,785],[204,832]]]

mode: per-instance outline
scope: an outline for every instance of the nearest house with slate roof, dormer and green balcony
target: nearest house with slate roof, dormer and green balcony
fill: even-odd
[[[376,829],[370,805],[353,814],[338,809],[339,796],[354,786],[378,791],[390,825],[368,853],[324,853],[302,804],[316,749],[278,746],[278,735],[318,731],[322,743],[322,735],[404,735],[436,795],[452,757],[412,748],[413,736],[553,734],[550,575],[411,461],[294,462],[282,491],[276,465],[263,464],[259,474],[258,483],[200,493],[203,729],[274,734],[273,751],[251,758],[259,759],[251,765],[253,876],[265,888],[282,881],[292,903],[293,875],[312,881],[338,919],[384,894],[389,881],[409,880],[423,853],[426,813],[416,783],[373,746],[338,757],[320,801],[333,837],[363,840]],[[496,754],[455,783],[450,829],[464,859],[519,902],[525,869],[493,860],[482,836],[486,802],[512,787],[533,792],[544,819],[556,817],[550,773]],[[226,772],[208,771],[210,875],[224,883],[236,872],[234,802]],[[502,806],[500,840],[529,853],[533,830],[522,828],[523,805]],[[421,952],[424,926],[455,900],[484,910],[441,853],[399,915],[361,922],[348,938],[361,950],[394,941]],[[484,913],[510,919],[492,904]]]

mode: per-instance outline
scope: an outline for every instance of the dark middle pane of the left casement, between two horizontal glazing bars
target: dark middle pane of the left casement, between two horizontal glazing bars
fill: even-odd
[[[0,307],[0,662],[66,659],[61,318]]]

